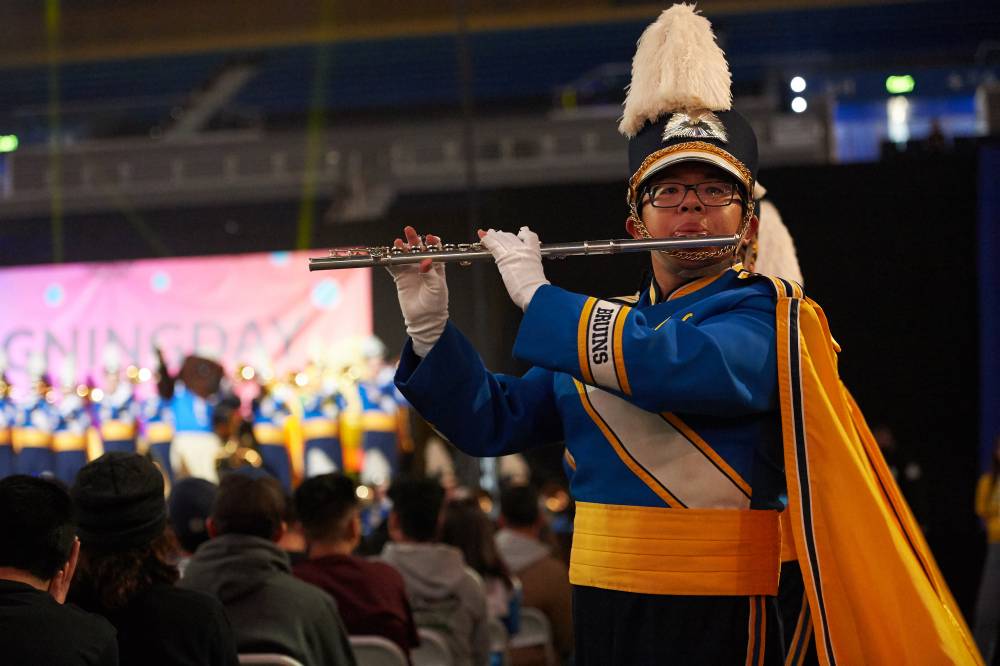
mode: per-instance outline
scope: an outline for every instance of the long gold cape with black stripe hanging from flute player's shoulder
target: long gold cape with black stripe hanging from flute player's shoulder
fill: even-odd
[[[910,508],[837,373],[823,310],[778,291],[788,511],[822,664],[982,664]]]

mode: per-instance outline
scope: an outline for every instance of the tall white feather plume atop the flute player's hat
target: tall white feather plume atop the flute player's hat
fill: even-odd
[[[646,121],[675,111],[728,111],[731,80],[712,24],[694,5],[674,5],[639,38],[618,131],[632,138]]]

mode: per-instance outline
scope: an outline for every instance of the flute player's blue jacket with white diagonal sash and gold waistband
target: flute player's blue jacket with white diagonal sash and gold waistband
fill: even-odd
[[[737,267],[628,300],[543,286],[514,346],[534,366],[525,375],[488,372],[448,324],[422,360],[407,344],[397,386],[472,455],[566,443],[574,584],[774,594],[784,488],[774,288]]]

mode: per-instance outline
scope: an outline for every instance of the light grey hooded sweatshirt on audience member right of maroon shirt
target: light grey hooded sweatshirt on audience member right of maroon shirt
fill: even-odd
[[[454,663],[489,663],[486,595],[462,551],[440,543],[388,543],[382,561],[403,575],[417,626],[442,634]]]

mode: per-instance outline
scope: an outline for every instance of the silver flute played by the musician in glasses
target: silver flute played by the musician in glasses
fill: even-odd
[[[627,252],[649,252],[652,250],[688,250],[702,247],[735,246],[739,236],[684,236],[679,238],[612,238],[600,241],[576,241],[572,243],[543,243],[542,257],[559,259],[562,257],[588,254],[623,254]],[[421,239],[423,242],[423,239]],[[482,243],[444,243],[426,245],[425,249],[413,252],[383,245],[381,247],[346,247],[330,250],[329,257],[309,259],[309,270],[329,271],[338,268],[372,268],[374,266],[398,266],[416,264],[424,259],[435,262],[457,262],[469,265],[473,261],[493,261],[493,255]]]

